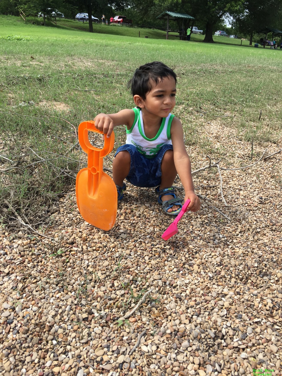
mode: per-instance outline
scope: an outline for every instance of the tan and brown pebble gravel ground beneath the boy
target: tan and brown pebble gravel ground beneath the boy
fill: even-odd
[[[203,135],[224,145],[221,167],[279,150],[255,144],[250,162],[232,129],[210,123]],[[199,147],[188,152],[193,170],[208,164]],[[195,174],[202,208],[168,241],[153,190],[130,184],[108,232],[83,221],[74,192],[46,237],[2,226],[0,373],[280,375],[281,159],[221,170],[229,206],[216,168]]]

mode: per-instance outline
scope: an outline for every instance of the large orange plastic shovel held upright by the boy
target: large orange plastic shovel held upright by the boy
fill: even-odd
[[[88,131],[103,134],[94,121],[83,121],[78,127],[78,140],[87,153],[87,168],[76,176],[76,201],[83,219],[101,230],[110,230],[117,218],[117,188],[103,171],[103,157],[111,153],[115,135],[105,137],[103,149],[90,144]]]

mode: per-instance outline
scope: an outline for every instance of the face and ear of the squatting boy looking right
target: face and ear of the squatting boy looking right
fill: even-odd
[[[164,77],[146,93],[146,99],[134,96],[135,104],[148,114],[167,117],[175,106],[176,82],[173,77]]]

